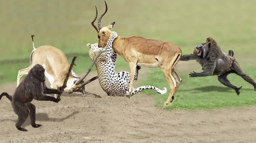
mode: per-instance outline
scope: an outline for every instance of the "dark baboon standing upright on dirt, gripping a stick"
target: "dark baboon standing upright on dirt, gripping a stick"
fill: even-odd
[[[57,99],[46,94],[62,94],[62,91],[56,89],[49,89],[45,85],[43,66],[37,64],[29,72],[28,76],[19,84],[16,88],[13,96],[10,96],[6,92],[0,95],[0,100],[3,96],[6,96],[12,104],[13,111],[18,115],[18,121],[16,122],[16,128],[21,131],[28,131],[22,128],[21,125],[25,122],[28,115],[30,117],[31,126],[38,128],[41,124],[36,124],[36,107],[31,101],[53,101],[58,103],[61,99]]]

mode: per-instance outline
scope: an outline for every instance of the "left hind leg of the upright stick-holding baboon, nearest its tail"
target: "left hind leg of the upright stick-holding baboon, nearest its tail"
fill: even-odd
[[[22,102],[13,102],[13,111],[15,114],[18,115],[18,120],[16,122],[16,128],[21,131],[28,131],[25,128],[21,128],[21,125],[26,121],[28,118],[29,110]]]

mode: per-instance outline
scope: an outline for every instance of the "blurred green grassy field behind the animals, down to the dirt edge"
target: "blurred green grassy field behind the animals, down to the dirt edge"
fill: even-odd
[[[86,44],[97,42],[96,30],[91,26],[95,16],[94,5],[97,5],[101,14],[105,10],[103,0],[0,2],[1,84],[15,82],[18,70],[29,66],[32,34],[35,35],[36,47],[55,46],[67,55],[69,61],[73,56],[78,56],[74,67],[77,73],[82,73],[89,67],[91,60]],[[108,0],[107,4],[109,10],[102,19],[102,26],[115,21],[112,31],[118,32],[119,36],[142,36],[172,42],[182,49],[183,55],[190,54],[195,45],[211,36],[223,51],[234,50],[242,68],[256,80],[256,1]],[[128,69],[128,64],[121,57],[118,57],[116,66]],[[230,75],[229,78],[234,85],[243,86],[240,96],[222,86],[217,77],[189,78],[189,72],[201,71],[198,63],[183,63],[178,66],[178,73],[183,81],[174,105],[163,107],[168,94],[156,95],[157,107],[208,109],[252,105],[256,102],[252,86],[236,75]],[[182,67],[190,68],[181,70]],[[160,69],[150,69],[149,77],[141,81],[141,85],[168,88]],[[144,93],[154,94],[151,91]]]

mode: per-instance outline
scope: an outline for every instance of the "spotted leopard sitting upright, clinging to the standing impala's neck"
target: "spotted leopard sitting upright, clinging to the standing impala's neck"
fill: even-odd
[[[86,46],[90,48],[89,56],[91,60],[94,60],[100,52],[105,51],[98,57],[94,64],[101,88],[108,96],[128,97],[129,83],[131,81],[130,73],[127,71],[116,73],[115,71],[117,53],[114,50],[112,52],[112,43],[117,36],[116,32],[110,34],[106,48],[99,47],[98,43],[88,43]],[[139,69],[141,69],[141,67],[136,65],[135,77],[132,79],[133,81],[137,81]],[[141,86],[135,88],[132,91],[131,96],[145,89],[152,89],[158,94],[165,94],[167,91],[165,87],[161,90],[155,86]]]

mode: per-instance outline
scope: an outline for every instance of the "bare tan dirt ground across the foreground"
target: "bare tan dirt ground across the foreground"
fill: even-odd
[[[90,73],[86,79],[96,73]],[[143,77],[145,72],[140,72]],[[139,79],[141,80],[141,78]],[[16,83],[0,87],[13,94]],[[136,85],[135,85],[136,87]],[[226,108],[220,110],[159,110],[154,97],[136,94],[108,97],[98,81],[86,90],[102,98],[62,94],[59,103],[33,101],[36,123],[24,123],[28,132],[15,128],[17,120],[10,101],[0,101],[1,143],[210,143],[256,142],[256,107]],[[161,96],[161,95],[159,95]]]

